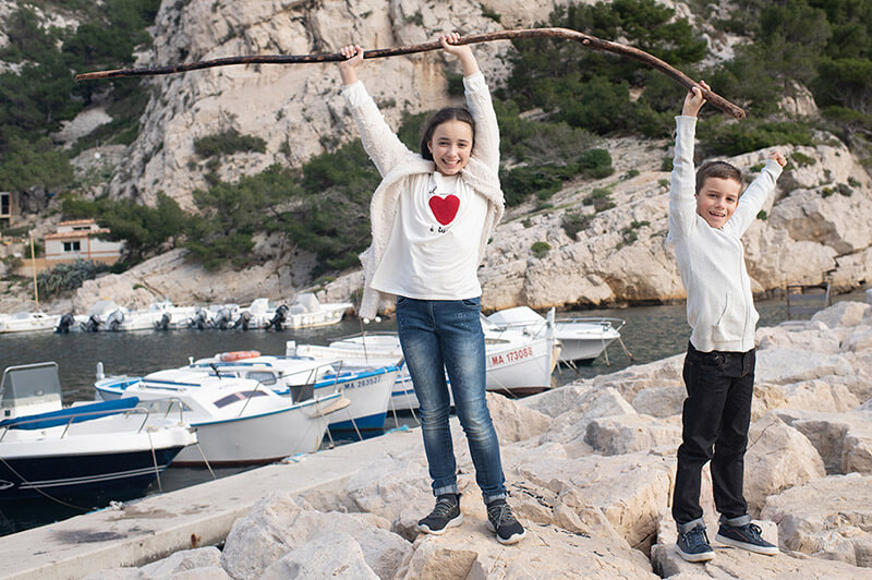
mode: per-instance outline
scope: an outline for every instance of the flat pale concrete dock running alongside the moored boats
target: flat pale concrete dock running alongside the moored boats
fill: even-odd
[[[225,540],[237,518],[274,491],[340,492],[355,471],[419,444],[419,430],[383,436],[0,537],[0,578],[82,578],[141,567],[181,549]]]

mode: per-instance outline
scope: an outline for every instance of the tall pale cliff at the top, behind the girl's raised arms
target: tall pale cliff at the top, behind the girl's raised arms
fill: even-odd
[[[501,4],[501,3],[495,3]],[[494,10],[516,13],[508,20],[530,24],[550,2],[506,2]],[[241,55],[337,52],[347,44],[384,48],[431,41],[439,34],[488,32],[502,26],[483,15],[479,2],[259,0],[164,2],[154,27],[155,50],[140,65],[208,60]],[[507,43],[476,49],[486,70],[499,74]],[[391,123],[403,111],[435,109],[447,102],[443,56],[367,62],[361,76]],[[154,97],[142,119],[143,131],[129,162],[112,181],[116,196],[152,202],[172,192],[183,206],[191,192],[206,188],[205,160],[194,141],[235,130],[266,142],[266,152],[222,159],[218,176],[235,180],[271,164],[300,166],[313,155],[355,136],[339,97],[335,63],[225,67],[156,77]]]

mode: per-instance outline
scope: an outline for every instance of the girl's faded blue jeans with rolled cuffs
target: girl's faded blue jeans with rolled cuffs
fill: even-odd
[[[397,299],[397,330],[415,396],[433,494],[457,493],[457,462],[448,415],[455,409],[470,446],[485,503],[506,497],[499,442],[485,399],[481,300]]]

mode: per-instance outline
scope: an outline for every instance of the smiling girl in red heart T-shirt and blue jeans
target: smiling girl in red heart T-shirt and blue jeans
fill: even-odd
[[[396,297],[397,329],[421,404],[424,450],[436,507],[419,530],[441,534],[460,525],[457,466],[448,425],[451,384],[467,434],[475,481],[487,506],[488,527],[504,544],[524,536],[506,503],[499,444],[485,400],[484,335],[479,319],[482,289],[476,271],[502,216],[499,132],[491,94],[468,46],[457,33],[439,37],[460,59],[468,109],[447,108],[426,123],[421,155],[400,142],[358,81],[360,46],[347,46],[339,64],[342,96],[382,183],[373,194],[373,243],[361,255],[360,315],[375,316]]]

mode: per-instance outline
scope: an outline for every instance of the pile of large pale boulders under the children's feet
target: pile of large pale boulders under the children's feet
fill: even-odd
[[[410,437],[335,488],[263,497],[220,547],[87,578],[872,578],[872,305],[840,302],[756,338],[746,495],[777,539],[775,557],[718,546],[702,565],[675,554],[685,396],[676,355],[519,401],[488,397],[511,504],[529,530],[516,546],[486,530],[455,424],[465,520],[445,535],[415,532],[433,498],[420,437]]]

